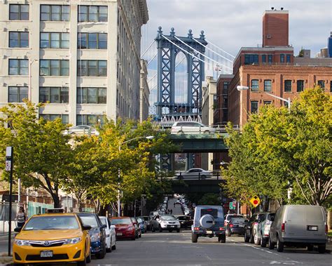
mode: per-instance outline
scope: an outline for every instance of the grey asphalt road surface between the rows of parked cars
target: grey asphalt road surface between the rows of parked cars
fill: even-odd
[[[332,255],[285,248],[283,253],[244,243],[243,237],[216,238],[191,243],[189,230],[180,233],[148,232],[136,241],[118,241],[116,251],[90,265],[331,265]]]

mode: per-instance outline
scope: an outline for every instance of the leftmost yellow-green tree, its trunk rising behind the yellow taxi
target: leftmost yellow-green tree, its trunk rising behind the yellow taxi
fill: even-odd
[[[60,184],[67,176],[71,161],[70,137],[62,134],[67,126],[60,119],[45,121],[37,118],[42,106],[27,101],[24,105],[2,107],[0,147],[3,154],[6,146],[14,147],[15,178],[20,177],[25,187],[45,189],[58,208]],[[8,173],[4,172],[4,178],[8,180]]]

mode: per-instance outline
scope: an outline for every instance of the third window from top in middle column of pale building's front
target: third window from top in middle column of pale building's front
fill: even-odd
[[[69,60],[40,60],[41,76],[69,76]]]

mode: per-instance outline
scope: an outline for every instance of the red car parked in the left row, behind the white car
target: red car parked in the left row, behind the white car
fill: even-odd
[[[116,239],[136,239],[135,227],[130,217],[113,217],[111,225],[116,226]]]

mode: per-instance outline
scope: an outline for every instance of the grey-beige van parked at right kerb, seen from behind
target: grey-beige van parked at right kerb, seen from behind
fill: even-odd
[[[318,246],[319,253],[325,253],[328,237],[326,211],[322,206],[284,205],[275,213],[270,226],[269,248],[277,244],[277,251],[284,246],[302,246],[312,251]]]

